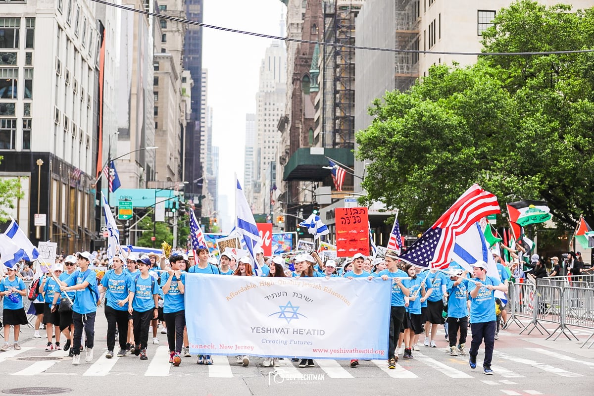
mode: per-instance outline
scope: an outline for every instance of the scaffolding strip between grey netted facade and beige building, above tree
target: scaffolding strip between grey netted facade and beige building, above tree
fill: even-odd
[[[396,48],[419,50],[419,0],[396,0]],[[394,88],[408,90],[419,77],[419,54],[396,52],[394,55]]]

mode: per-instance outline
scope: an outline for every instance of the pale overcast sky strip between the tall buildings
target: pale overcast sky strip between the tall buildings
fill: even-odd
[[[279,36],[281,14],[284,23],[285,13],[286,7],[280,0],[204,0],[203,21]],[[271,39],[204,28],[202,67],[208,69],[213,145],[220,147],[219,197],[228,195],[226,208],[219,199],[219,218],[223,224],[230,224],[235,216],[233,177],[237,173],[243,183],[245,115],[255,113],[260,62],[271,42]]]

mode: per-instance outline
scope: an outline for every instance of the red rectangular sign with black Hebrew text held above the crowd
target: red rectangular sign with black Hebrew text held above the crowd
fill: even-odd
[[[369,216],[367,208],[336,208],[336,255],[369,255]]]

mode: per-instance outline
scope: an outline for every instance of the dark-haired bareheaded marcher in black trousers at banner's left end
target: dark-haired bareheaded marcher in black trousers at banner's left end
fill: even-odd
[[[184,342],[185,328],[185,273],[180,270],[184,258],[181,255],[169,257],[169,270],[161,274],[161,286],[165,294],[163,316],[167,324],[167,341],[169,344],[169,363],[179,366],[182,362],[181,351]],[[196,267],[196,265],[194,265]]]

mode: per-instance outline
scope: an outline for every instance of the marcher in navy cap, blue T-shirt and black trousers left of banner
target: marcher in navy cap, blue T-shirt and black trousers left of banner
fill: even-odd
[[[149,326],[159,313],[159,284],[149,274],[150,267],[150,258],[138,260],[140,276],[134,281],[134,297],[128,300],[128,312],[134,324],[134,354],[140,355],[140,360],[148,359]]]

